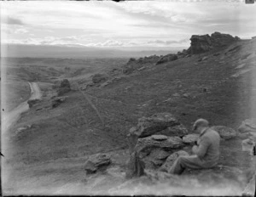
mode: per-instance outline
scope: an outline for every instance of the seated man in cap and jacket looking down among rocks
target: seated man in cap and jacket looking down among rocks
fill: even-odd
[[[170,173],[181,174],[185,168],[211,168],[218,164],[220,142],[218,132],[210,129],[208,121],[204,119],[195,121],[193,130],[200,133],[197,145],[192,148],[195,155],[178,157],[173,163]]]

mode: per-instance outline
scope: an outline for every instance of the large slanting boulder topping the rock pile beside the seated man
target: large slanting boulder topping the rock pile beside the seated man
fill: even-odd
[[[170,113],[157,113],[150,117],[142,117],[138,120],[137,127],[132,133],[139,138],[148,137],[156,132],[165,130],[167,127],[180,125],[177,119]],[[131,132],[131,131],[130,131]]]

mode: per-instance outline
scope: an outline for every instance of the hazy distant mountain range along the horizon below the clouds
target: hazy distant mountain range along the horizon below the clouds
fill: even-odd
[[[3,44],[2,57],[17,58],[131,58],[149,55],[166,55],[167,53],[177,53],[183,48],[145,50],[138,48],[90,48],[73,46],[51,46],[51,45],[25,45],[25,44]]]

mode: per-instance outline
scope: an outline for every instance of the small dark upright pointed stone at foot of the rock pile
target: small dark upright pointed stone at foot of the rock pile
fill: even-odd
[[[144,174],[145,164],[138,157],[137,152],[133,152],[126,162],[125,177],[140,177]]]

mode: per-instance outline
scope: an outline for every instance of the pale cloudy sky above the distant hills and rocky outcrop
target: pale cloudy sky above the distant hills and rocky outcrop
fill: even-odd
[[[1,42],[145,50],[189,47],[214,31],[256,36],[254,4],[244,1],[1,2]]]

